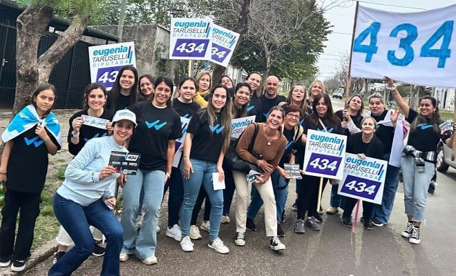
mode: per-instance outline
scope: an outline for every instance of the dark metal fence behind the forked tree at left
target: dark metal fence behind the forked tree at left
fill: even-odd
[[[58,35],[46,32],[39,43],[41,55],[57,39]],[[90,43],[77,41],[55,66],[49,82],[57,89],[56,108],[82,107],[82,91],[91,83],[88,63]],[[16,86],[16,22],[0,19],[0,108],[12,108]],[[30,91],[31,93],[32,91]]]

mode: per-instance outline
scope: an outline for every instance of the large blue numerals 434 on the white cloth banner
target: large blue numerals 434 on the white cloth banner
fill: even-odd
[[[445,21],[435,32],[426,43],[421,46],[421,51],[419,57],[437,57],[439,62],[437,63],[437,68],[445,68],[445,62],[448,57],[451,56],[451,50],[449,48],[451,37],[453,35],[453,26],[455,21],[448,20]],[[381,28],[381,23],[374,22],[368,28],[365,28],[356,39],[353,41],[353,52],[363,52],[365,53],[365,62],[372,61],[372,56],[377,53],[377,34]],[[412,48],[412,43],[418,37],[418,29],[415,25],[410,23],[403,23],[399,26],[396,26],[391,32],[390,37],[397,37],[397,34],[400,31],[406,31],[407,37],[402,38],[399,42],[399,48],[405,50],[406,55],[401,59],[398,59],[395,56],[395,50],[388,50],[388,61],[394,66],[407,66],[410,64],[414,57],[414,50]],[[370,36],[370,43],[362,44],[365,39]],[[431,49],[435,46],[435,43],[442,39],[441,46],[439,49]]]

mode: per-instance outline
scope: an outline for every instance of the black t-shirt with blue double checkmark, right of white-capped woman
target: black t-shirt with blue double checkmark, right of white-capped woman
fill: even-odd
[[[167,170],[168,141],[182,137],[180,116],[173,108],[157,108],[150,101],[129,108],[136,115],[137,127],[129,151],[141,154],[141,170]]]

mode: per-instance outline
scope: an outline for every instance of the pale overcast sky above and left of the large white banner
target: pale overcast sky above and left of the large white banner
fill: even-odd
[[[328,3],[330,0],[320,1]],[[343,0],[338,1],[339,3],[343,2]],[[379,3],[381,5],[372,3]],[[366,0],[360,1],[359,5],[395,12],[417,12],[419,9],[430,10],[433,8],[450,6],[455,3],[456,0]],[[325,43],[325,52],[319,59],[319,79],[329,79],[334,76],[339,57],[344,55],[344,53],[350,52],[355,6],[356,3],[350,1],[348,3],[343,3],[343,6],[332,8],[325,12],[326,19],[330,21],[333,26],[333,33],[328,36],[328,41]],[[401,8],[397,6],[410,8]]]

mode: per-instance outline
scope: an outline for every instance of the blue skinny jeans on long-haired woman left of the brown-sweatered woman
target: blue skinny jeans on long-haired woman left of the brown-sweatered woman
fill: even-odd
[[[223,209],[223,190],[213,190],[212,186],[212,172],[217,172],[216,164],[200,159],[190,159],[190,162],[191,166],[193,166],[193,173],[190,175],[190,179],[182,179],[184,182],[184,202],[180,212],[182,237],[187,237],[190,233],[191,213],[202,185],[209,196],[209,201],[211,201],[211,215],[209,216],[211,231],[209,232],[209,238],[213,241],[218,237]],[[183,166],[182,162],[181,168]]]

